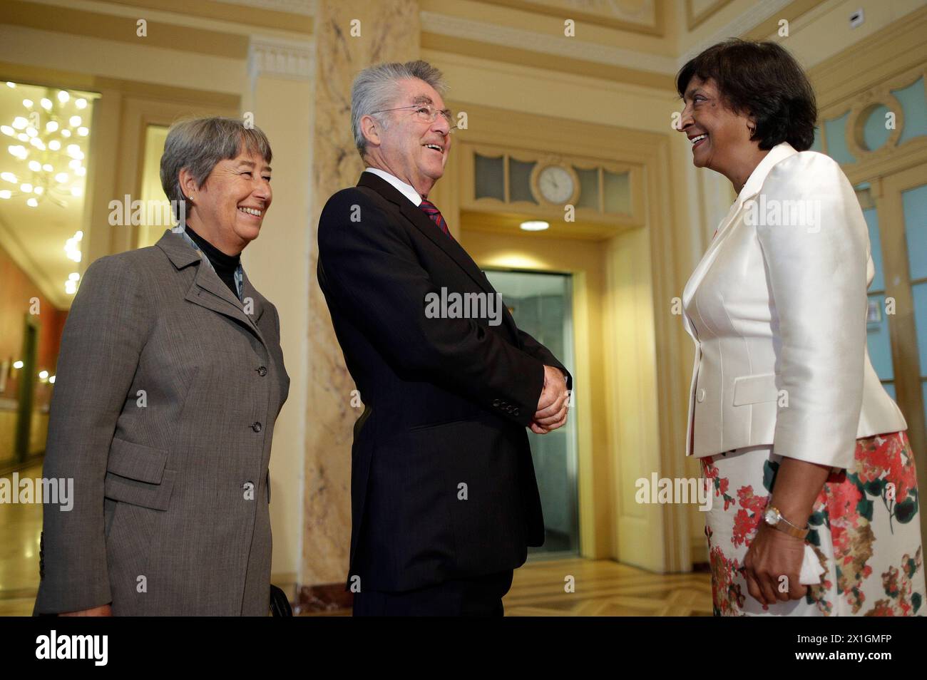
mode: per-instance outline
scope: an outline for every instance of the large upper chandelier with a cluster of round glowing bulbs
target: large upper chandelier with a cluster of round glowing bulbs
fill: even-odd
[[[17,83],[6,86],[15,89]],[[30,208],[44,201],[67,208],[69,199],[83,195],[89,102],[68,90],[29,89],[44,96],[23,98],[20,115],[0,125],[5,135],[0,139],[15,159],[10,170],[0,172],[0,198],[24,200]]]

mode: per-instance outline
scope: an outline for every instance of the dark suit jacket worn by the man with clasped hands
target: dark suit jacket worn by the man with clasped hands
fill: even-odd
[[[349,584],[403,591],[513,569],[544,541],[526,426],[560,361],[508,309],[433,319],[425,296],[496,295],[455,240],[364,172],[319,222],[319,283],[365,409],[354,426]],[[345,396],[348,398],[348,396]]]

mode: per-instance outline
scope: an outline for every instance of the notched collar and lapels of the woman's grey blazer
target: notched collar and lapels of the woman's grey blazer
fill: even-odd
[[[253,305],[251,315],[245,313],[242,302],[232,295],[232,291],[225,283],[222,283],[222,279],[216,272],[212,271],[211,267],[203,266],[199,253],[191,248],[179,234],[168,230],[160,237],[156,246],[167,254],[178,271],[192,264],[198,264],[197,273],[184,299],[239,321],[255,334],[261,343],[264,343],[264,338],[257,325],[260,315],[264,313],[263,298],[248,281],[248,274],[245,274],[242,281],[242,296],[245,298],[245,304],[248,304],[249,299],[252,301],[250,303]]]

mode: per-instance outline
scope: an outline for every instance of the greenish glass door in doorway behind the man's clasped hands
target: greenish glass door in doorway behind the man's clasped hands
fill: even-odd
[[[569,274],[534,271],[487,271],[502,294],[515,324],[550,349],[571,369],[573,360],[573,296]],[[529,555],[565,557],[579,552],[576,405],[566,425],[548,434],[527,432],[544,510],[544,545]]]

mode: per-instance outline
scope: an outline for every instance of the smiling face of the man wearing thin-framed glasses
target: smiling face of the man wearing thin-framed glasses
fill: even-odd
[[[451,125],[440,114],[432,122],[422,120],[412,107],[430,105],[443,111],[444,100],[431,85],[417,78],[396,82],[396,90],[388,108],[410,108],[380,114],[389,117],[386,129],[372,116],[362,118],[366,161],[427,196],[444,174],[451,150]]]

